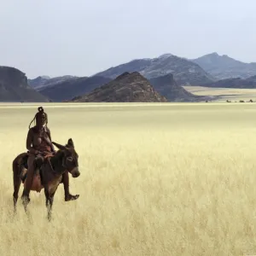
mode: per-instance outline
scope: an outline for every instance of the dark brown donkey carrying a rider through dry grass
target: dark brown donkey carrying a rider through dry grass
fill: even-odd
[[[55,192],[61,183],[62,174],[66,171],[70,172],[72,177],[79,177],[79,155],[75,151],[72,138],[68,139],[67,145],[62,146],[59,143],[52,142],[59,150],[54,154],[45,158],[39,157],[35,159],[35,174],[33,177],[32,191],[38,193],[44,189],[46,199],[47,217],[51,219],[52,205]],[[26,183],[27,171],[27,153],[16,156],[13,161],[13,182],[14,182],[14,211],[16,212],[16,204],[19,197],[20,183]],[[27,198],[22,198],[22,203],[27,213]]]

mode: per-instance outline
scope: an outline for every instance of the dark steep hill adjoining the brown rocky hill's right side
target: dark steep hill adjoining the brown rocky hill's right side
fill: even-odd
[[[197,102],[202,100],[201,96],[195,96],[178,85],[172,74],[149,79],[149,82],[154,86],[154,90],[165,96],[169,102]]]

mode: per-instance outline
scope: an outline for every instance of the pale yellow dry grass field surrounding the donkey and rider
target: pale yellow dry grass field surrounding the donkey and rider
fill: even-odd
[[[73,138],[78,201],[44,190],[12,218],[12,160],[38,105],[0,105],[0,255],[256,254],[256,104],[45,104]],[[22,187],[20,189],[20,195]]]

